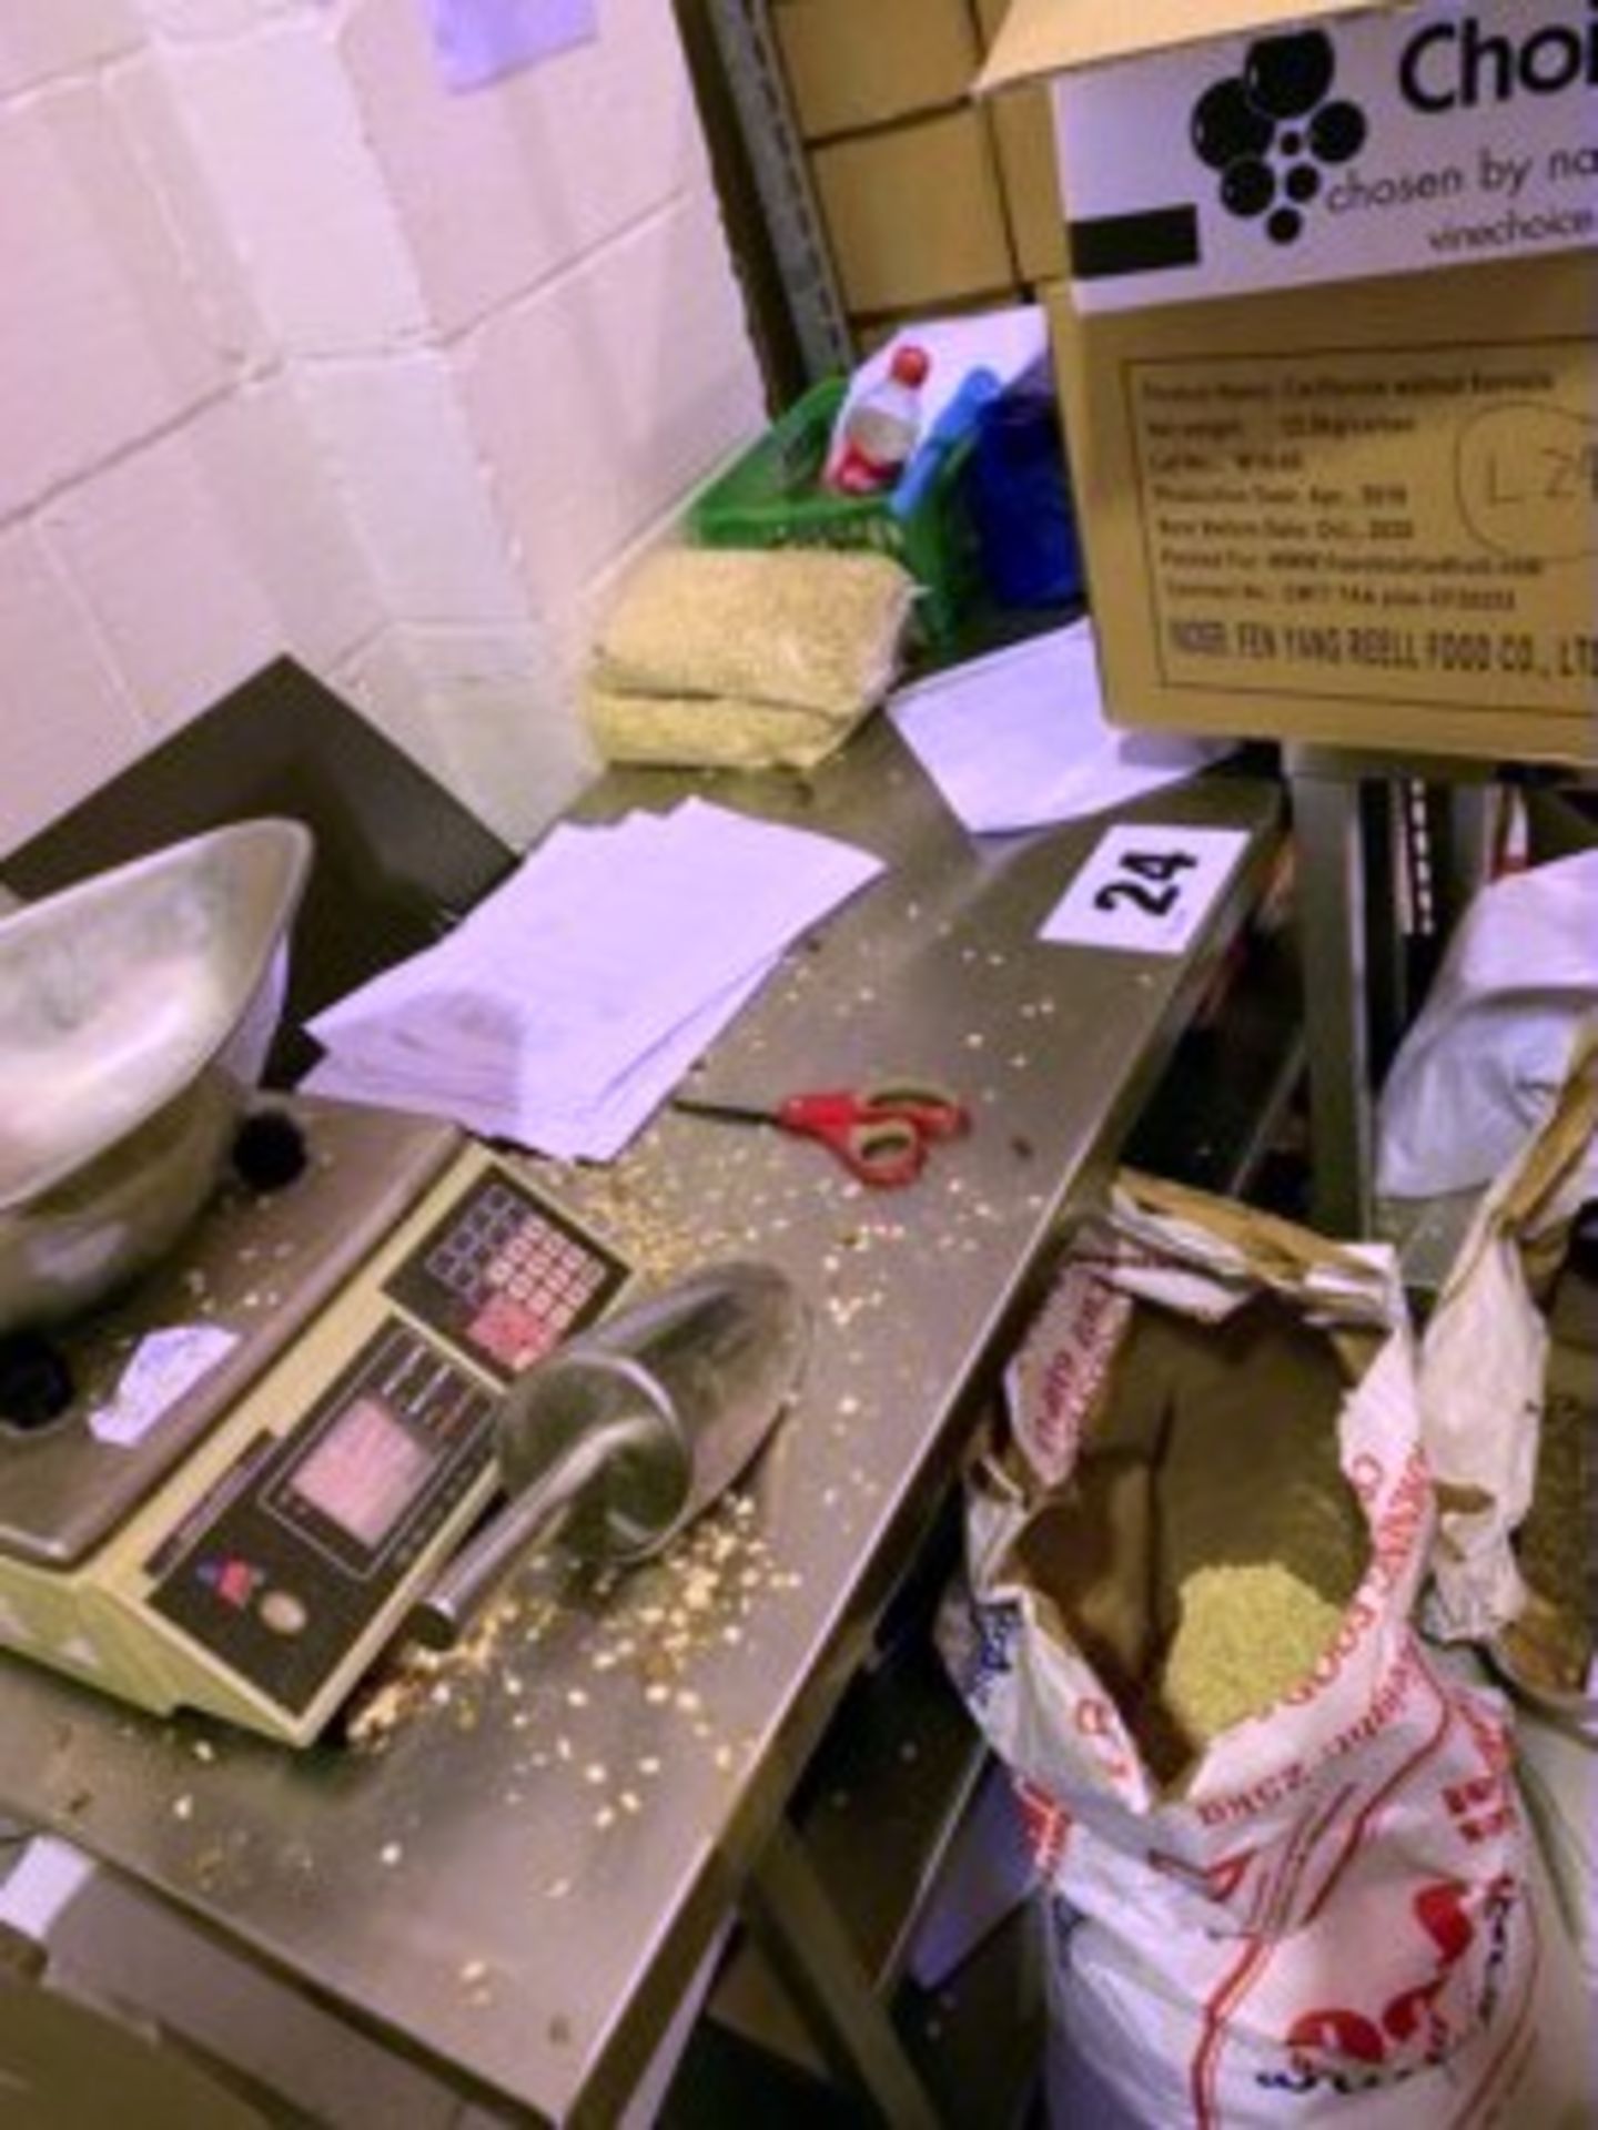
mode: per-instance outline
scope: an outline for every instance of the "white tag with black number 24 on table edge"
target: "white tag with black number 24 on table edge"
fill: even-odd
[[[1242,829],[1116,822],[1048,914],[1040,937],[1059,946],[1180,954],[1246,841]]]

